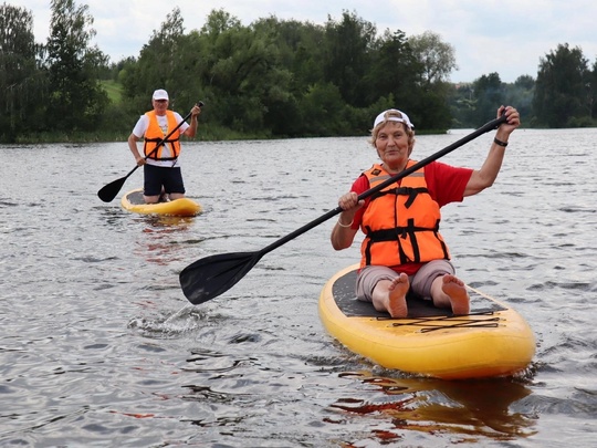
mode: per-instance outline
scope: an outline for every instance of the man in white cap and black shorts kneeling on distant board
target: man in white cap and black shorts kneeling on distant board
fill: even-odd
[[[142,115],[128,137],[128,147],[138,166],[144,165],[144,199],[147,204],[185,197],[185,184],[178,164],[180,136],[195,137],[201,113],[196,104],[190,112],[190,124],[168,110],[168,92],[158,88],[151,96],[153,111]],[[202,105],[202,104],[201,104]],[[137,142],[144,139],[143,156]]]

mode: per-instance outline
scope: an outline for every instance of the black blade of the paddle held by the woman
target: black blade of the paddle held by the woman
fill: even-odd
[[[237,284],[261,259],[262,252],[233,252],[197,260],[180,272],[180,286],[193,305],[207,302]]]

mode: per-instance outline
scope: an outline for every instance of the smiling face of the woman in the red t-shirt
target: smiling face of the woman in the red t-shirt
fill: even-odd
[[[406,167],[415,144],[412,132],[408,131],[400,122],[386,122],[377,129],[375,148],[389,171],[399,173]]]

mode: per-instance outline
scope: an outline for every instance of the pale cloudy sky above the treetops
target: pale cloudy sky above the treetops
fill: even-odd
[[[31,10],[35,40],[45,43],[50,0],[2,1]],[[324,24],[328,15],[339,21],[348,11],[374,23],[378,32],[401,30],[410,37],[433,31],[455,50],[459,70],[452,72],[452,82],[493,72],[504,82],[524,74],[536,77],[540,58],[564,43],[580,48],[589,66],[597,56],[594,0],[75,0],[75,4],[90,7],[97,32],[93,43],[112,62],[138,56],[177,6],[187,32],[199,30],[214,9],[245,25],[270,15]]]

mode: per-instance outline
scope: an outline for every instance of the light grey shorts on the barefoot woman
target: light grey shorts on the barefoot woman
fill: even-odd
[[[423,264],[415,275],[409,275],[410,291],[415,294],[430,300],[431,283],[440,275],[454,274],[454,265],[449,260],[432,260]],[[364,302],[371,301],[375,285],[380,280],[394,280],[398,273],[385,265],[367,265],[360,270],[356,281],[357,299]]]

